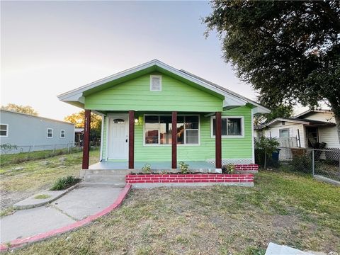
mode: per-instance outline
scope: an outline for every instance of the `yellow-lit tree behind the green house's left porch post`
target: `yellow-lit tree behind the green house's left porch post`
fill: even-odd
[[[85,111],[79,113],[73,113],[64,118],[65,121],[74,123],[76,128],[84,128],[84,116]],[[101,117],[94,113],[91,113],[91,129],[90,129],[90,140],[97,141],[101,137]]]

